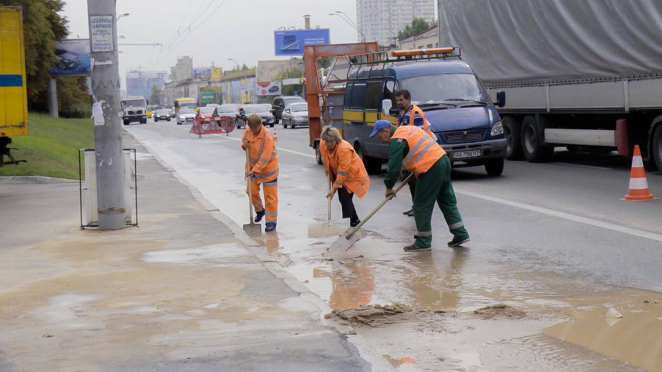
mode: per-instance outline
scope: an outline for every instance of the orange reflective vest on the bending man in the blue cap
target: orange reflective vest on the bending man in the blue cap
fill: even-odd
[[[399,127],[391,136],[391,139],[393,138],[407,141],[409,153],[403,158],[402,163],[405,169],[417,177],[428,172],[428,169],[446,154],[438,143],[416,125]]]

